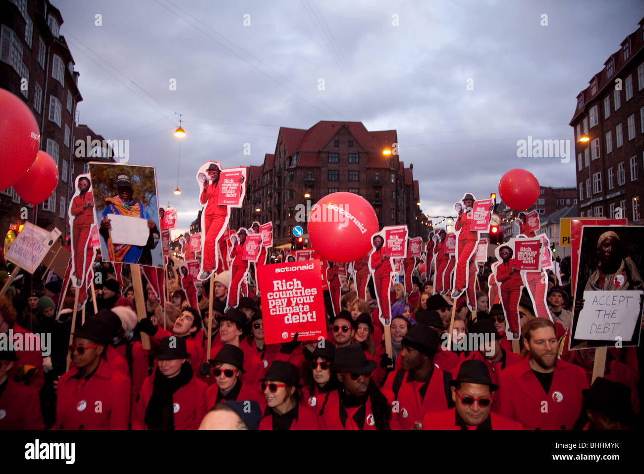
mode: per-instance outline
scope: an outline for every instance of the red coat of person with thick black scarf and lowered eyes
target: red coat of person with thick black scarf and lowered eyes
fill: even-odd
[[[154,388],[154,375],[149,375],[143,382],[141,394],[137,401],[137,408],[132,420],[133,430],[146,430],[147,403],[152,396]],[[186,385],[175,391],[172,396],[175,411],[175,430],[197,430],[207,413],[205,404],[206,386],[196,377],[190,379]]]

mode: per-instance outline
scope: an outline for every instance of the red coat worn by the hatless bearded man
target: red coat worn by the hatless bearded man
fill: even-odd
[[[526,357],[501,372],[499,413],[526,430],[560,430],[562,426],[570,430],[582,413],[582,390],[588,388],[585,372],[557,360],[550,391],[545,393],[529,360]]]

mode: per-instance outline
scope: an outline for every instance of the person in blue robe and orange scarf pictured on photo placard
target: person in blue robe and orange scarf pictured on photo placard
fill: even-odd
[[[105,199],[107,206],[100,217],[99,226],[99,234],[106,243],[108,250],[108,260],[111,262],[151,265],[151,249],[155,248],[156,244],[158,244],[158,241],[160,240],[158,228],[156,228],[155,222],[147,214],[143,203],[134,200],[132,180],[128,175],[118,175],[115,187],[117,188],[117,195]],[[114,244],[111,241],[109,233],[112,228],[111,221],[108,217],[109,214],[146,219],[147,229],[149,231],[146,244],[144,246],[120,243]]]

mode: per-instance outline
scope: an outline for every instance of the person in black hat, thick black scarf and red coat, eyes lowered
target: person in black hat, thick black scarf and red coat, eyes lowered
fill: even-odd
[[[185,339],[169,336],[156,351],[156,372],[143,382],[133,430],[197,430],[207,413],[206,386],[193,375]]]

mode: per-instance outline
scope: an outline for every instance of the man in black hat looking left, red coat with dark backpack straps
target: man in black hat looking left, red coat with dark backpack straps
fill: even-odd
[[[412,326],[403,337],[402,368],[384,382],[383,391],[393,393],[393,417],[403,430],[411,430],[428,411],[453,406],[448,385],[451,373],[434,365],[439,343],[437,331],[424,324]]]

